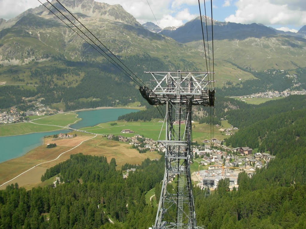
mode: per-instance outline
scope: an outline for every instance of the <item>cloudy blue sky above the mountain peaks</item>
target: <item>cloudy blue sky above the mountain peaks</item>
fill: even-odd
[[[60,0],[59,0],[60,1]],[[200,16],[196,0],[95,0],[108,4],[120,4],[137,21],[151,21],[164,28],[181,26]],[[45,0],[41,0],[45,2]],[[211,2],[205,1],[206,15],[211,17]],[[9,20],[29,8],[40,5],[37,0],[0,0],[0,18]],[[205,14],[204,0],[200,1]],[[154,13],[151,11],[151,9]],[[305,0],[213,0],[213,19],[241,24],[264,24],[282,31],[297,32],[306,25]],[[156,20],[155,20],[156,18]]]

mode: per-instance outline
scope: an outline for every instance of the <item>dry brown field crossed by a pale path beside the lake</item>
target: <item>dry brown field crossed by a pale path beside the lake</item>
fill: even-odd
[[[82,141],[90,139],[91,137],[92,136],[77,136],[72,139],[56,141],[52,141],[51,138],[46,138],[42,146],[35,148],[22,157],[14,158],[0,164],[0,185],[39,163],[57,158],[59,154],[70,150]],[[48,149],[46,146],[50,142],[56,143],[57,147]],[[16,179],[1,186],[0,189],[5,189],[7,185],[15,184],[16,182],[20,187],[23,186],[27,189],[38,186],[41,184],[40,178],[45,173],[46,169],[69,159],[71,154],[77,153],[105,156],[109,162],[111,158],[115,158],[118,165],[117,169],[121,169],[121,166],[125,163],[137,164],[141,163],[146,158],[154,159],[160,157],[156,152],[140,154],[135,149],[132,149],[127,143],[110,141],[101,136],[97,136],[91,140],[83,142],[75,149],[66,152],[55,161],[36,166]]]

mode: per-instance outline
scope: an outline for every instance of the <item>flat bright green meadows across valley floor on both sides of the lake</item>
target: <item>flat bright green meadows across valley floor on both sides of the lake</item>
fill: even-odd
[[[32,116],[30,117],[32,119]],[[0,136],[57,130],[61,129],[59,126],[67,126],[78,120],[80,120],[80,118],[77,118],[76,113],[74,112],[51,116],[35,116],[32,122],[22,122],[13,125],[0,126]],[[117,124],[111,125],[114,123]],[[198,141],[198,143],[202,142],[204,139],[211,139],[211,137],[223,140],[226,136],[219,129],[228,127],[230,127],[230,124],[227,121],[222,121],[221,127],[217,128],[216,126],[214,126],[214,134],[211,135],[211,127],[209,124],[199,124],[198,122],[194,122],[192,123],[192,140]],[[181,128],[181,131],[183,132],[185,125],[182,125]],[[134,131],[134,133],[121,133],[122,129],[130,129]],[[91,127],[85,127],[81,130],[96,134],[114,134],[126,137],[131,137],[135,134],[139,134],[141,136],[152,138],[154,140],[163,140],[165,139],[166,134],[165,125],[163,126],[163,123],[158,122],[158,120],[153,120],[150,122],[112,121],[100,123]]]

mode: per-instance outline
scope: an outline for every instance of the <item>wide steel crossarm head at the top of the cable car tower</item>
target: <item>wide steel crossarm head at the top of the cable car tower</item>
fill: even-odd
[[[180,98],[191,100],[192,105],[214,106],[215,91],[207,90],[214,80],[209,80],[209,74],[215,72],[194,71],[145,71],[153,79],[140,87],[141,95],[151,105],[162,105],[167,100]]]

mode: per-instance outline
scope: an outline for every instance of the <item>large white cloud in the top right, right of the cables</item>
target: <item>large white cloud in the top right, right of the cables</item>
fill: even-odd
[[[270,2],[269,0],[238,0],[235,3],[237,6],[235,14],[226,17],[225,20],[243,24],[254,22],[270,25],[292,24],[300,26],[306,24],[306,11],[290,9],[287,4],[273,4],[271,3],[273,1],[276,0],[270,0]]]

